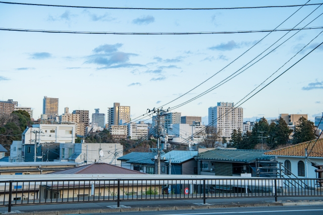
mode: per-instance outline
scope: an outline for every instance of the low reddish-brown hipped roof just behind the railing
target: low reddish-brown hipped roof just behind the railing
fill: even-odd
[[[48,174],[145,174],[105,163],[94,163]]]

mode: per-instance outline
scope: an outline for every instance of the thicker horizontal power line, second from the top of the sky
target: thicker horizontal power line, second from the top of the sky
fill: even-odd
[[[307,27],[302,30],[319,29],[323,26]],[[69,34],[116,34],[116,35],[190,35],[190,34],[236,34],[236,33],[260,33],[276,31],[296,31],[301,28],[273,29],[273,30],[244,30],[244,31],[200,31],[200,32],[103,32],[103,31],[59,31],[59,30],[35,30],[19,28],[0,28],[2,31],[41,32],[41,33],[69,33]]]

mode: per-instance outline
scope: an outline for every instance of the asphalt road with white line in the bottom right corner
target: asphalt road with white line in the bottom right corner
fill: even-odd
[[[271,206],[271,207],[235,207],[235,208],[216,208],[216,209],[196,209],[196,210],[169,210],[169,211],[138,211],[138,212],[117,212],[117,213],[99,213],[106,215],[196,215],[196,214],[237,214],[244,215],[316,215],[323,214],[323,205],[308,206]],[[66,214],[69,215],[69,214]],[[72,215],[72,214],[71,214]],[[92,215],[92,214],[87,214]],[[94,215],[94,214],[93,214]]]

